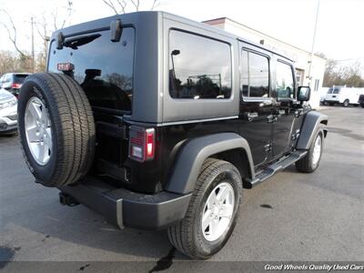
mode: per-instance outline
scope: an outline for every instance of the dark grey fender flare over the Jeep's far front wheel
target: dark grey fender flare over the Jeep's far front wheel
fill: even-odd
[[[320,129],[324,130],[326,137],[328,130],[325,127],[328,125],[328,121],[329,116],[317,111],[309,111],[303,120],[296,148],[308,150]],[[323,126],[324,128],[322,128]]]

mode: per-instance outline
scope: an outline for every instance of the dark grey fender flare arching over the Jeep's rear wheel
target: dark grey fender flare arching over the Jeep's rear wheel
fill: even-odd
[[[253,157],[248,141],[236,133],[218,133],[194,138],[181,147],[166,190],[179,194],[191,193],[207,157],[237,148],[246,153],[250,170],[249,178],[254,177]]]

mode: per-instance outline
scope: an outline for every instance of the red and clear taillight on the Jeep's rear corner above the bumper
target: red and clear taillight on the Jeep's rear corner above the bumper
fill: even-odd
[[[154,158],[156,136],[154,128],[130,126],[129,157],[144,162]]]

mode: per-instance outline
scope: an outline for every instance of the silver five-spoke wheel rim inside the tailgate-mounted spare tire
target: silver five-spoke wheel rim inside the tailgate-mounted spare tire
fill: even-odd
[[[26,142],[36,163],[44,166],[52,155],[52,129],[48,110],[36,96],[25,108]]]

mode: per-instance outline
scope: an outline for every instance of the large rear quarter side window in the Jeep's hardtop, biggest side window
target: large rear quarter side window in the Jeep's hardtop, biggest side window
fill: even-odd
[[[230,45],[172,30],[169,57],[169,94],[173,98],[231,96]]]

